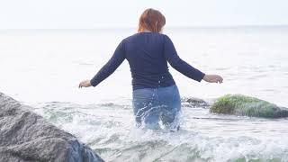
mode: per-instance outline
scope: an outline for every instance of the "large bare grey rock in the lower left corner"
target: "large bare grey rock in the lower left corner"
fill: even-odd
[[[0,161],[103,161],[70,133],[0,93]]]

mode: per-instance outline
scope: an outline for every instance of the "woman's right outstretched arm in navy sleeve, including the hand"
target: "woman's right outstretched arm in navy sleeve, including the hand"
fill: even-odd
[[[164,55],[171,67],[174,67],[177,71],[184,76],[192,78],[200,82],[202,79],[210,83],[222,83],[223,79],[218,75],[205,75],[202,71],[192,67],[186,63],[183,59],[179,58],[175,50],[175,46],[168,36],[165,35],[164,40]]]

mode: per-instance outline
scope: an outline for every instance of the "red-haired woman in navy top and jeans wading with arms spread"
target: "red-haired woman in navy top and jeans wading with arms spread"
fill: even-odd
[[[138,33],[121,40],[112,58],[91,79],[79,87],[96,86],[110,76],[126,58],[133,86],[133,112],[138,126],[159,128],[158,122],[170,130],[178,130],[180,95],[168,71],[167,62],[177,71],[200,82],[222,83],[221,76],[205,75],[178,57],[172,40],[162,34],[166,23],[163,14],[147,9],[139,18]]]

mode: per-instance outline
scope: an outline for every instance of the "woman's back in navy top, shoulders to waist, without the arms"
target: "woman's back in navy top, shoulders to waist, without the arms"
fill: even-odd
[[[165,35],[139,32],[124,40],[133,89],[174,85],[164,55]]]

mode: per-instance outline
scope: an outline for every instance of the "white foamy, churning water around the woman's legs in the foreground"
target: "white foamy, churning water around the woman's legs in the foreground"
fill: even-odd
[[[131,105],[40,103],[35,112],[87,143],[105,161],[285,161],[287,120],[184,107],[182,129],[142,130]]]

